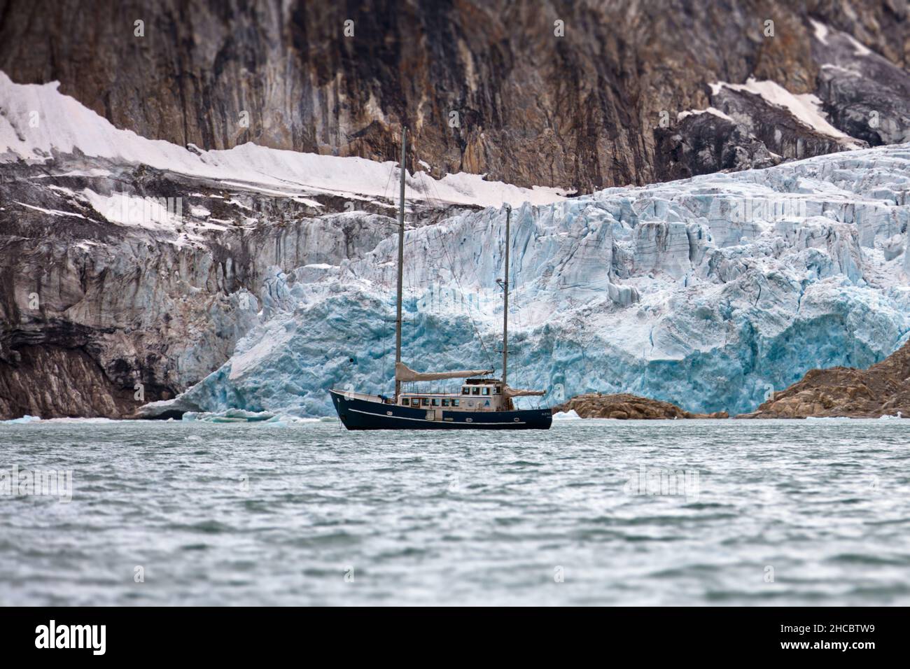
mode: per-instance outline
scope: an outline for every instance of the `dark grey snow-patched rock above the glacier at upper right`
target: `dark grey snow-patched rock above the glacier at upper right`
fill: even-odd
[[[675,127],[657,130],[657,173],[688,177],[769,167],[787,159],[910,140],[910,76],[905,69],[814,19],[804,39],[812,45],[817,65],[814,74],[805,76],[814,76],[815,83],[804,86],[800,79],[794,85],[814,90],[816,97],[798,95],[792,102],[807,109],[818,106],[832,126],[849,137],[809,127],[792,109],[749,90],[713,84],[708,92],[711,109],[683,113]],[[783,71],[779,74],[771,80],[784,79]],[[800,88],[780,92],[798,94]]]

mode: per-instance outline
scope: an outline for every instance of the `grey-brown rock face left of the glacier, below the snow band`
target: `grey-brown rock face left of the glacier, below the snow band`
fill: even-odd
[[[57,167],[66,173],[66,160]],[[15,178],[0,182],[0,419],[118,418],[170,399],[227,360],[252,327],[268,268],[337,265],[393,225],[364,212],[333,215],[344,203],[331,195],[317,218],[289,198],[107,167],[107,177],[5,167]],[[86,188],[181,198],[182,220],[118,225]],[[197,218],[197,207],[224,224]]]

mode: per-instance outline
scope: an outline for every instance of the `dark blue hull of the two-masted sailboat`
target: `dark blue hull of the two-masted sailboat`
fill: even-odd
[[[362,400],[329,390],[339,419],[349,430],[549,430],[549,409],[445,411]]]

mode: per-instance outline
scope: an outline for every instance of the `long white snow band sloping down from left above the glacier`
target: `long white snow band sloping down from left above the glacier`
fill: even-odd
[[[394,198],[397,165],[360,157],[321,156],[255,144],[205,151],[140,137],[58,90],[59,84],[16,84],[0,72],[0,163],[44,162],[55,153],[81,152],[120,163],[143,164],[226,183],[242,182],[284,193],[329,193],[354,198]],[[482,175],[426,172],[407,177],[411,199],[460,205],[547,204],[564,198],[557,188],[520,188]]]

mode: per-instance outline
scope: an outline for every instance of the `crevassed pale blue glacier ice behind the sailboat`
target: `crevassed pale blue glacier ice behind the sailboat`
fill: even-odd
[[[908,191],[904,144],[516,207],[511,385],[735,414],[812,368],[882,360],[908,333]],[[504,217],[408,211],[410,367],[500,370]],[[382,229],[339,264],[269,268],[231,358],[144,410],[318,417],[329,388],[390,394],[394,220]]]

